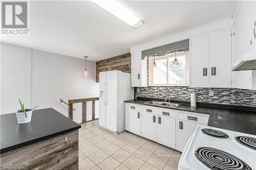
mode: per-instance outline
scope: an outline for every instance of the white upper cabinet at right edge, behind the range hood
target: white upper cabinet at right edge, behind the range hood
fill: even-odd
[[[234,23],[234,64],[244,53],[256,48],[254,28],[256,21],[255,1],[241,1],[236,21]],[[255,89],[255,71],[232,71],[232,87]]]

